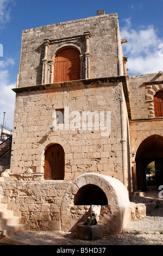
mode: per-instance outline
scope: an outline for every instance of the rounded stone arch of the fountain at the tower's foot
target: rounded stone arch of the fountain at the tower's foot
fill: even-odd
[[[121,233],[130,220],[128,192],[119,180],[95,173],[79,175],[65,191],[61,200],[61,230],[75,231],[78,222],[86,221],[90,205],[74,205],[74,197],[80,188],[89,184],[101,188],[108,199],[108,205],[102,206],[99,221],[105,223],[105,233]]]

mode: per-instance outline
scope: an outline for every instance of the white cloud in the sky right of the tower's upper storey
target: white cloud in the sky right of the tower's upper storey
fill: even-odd
[[[128,42],[123,44],[123,55],[128,57],[127,68],[129,75],[139,75],[163,71],[163,58],[159,45],[163,39],[156,34],[152,25],[132,28],[131,19],[126,19],[126,26],[121,29],[121,38]]]

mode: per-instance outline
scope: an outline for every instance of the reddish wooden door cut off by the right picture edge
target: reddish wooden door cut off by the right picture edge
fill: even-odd
[[[163,117],[163,91],[154,95],[153,102],[155,117]]]

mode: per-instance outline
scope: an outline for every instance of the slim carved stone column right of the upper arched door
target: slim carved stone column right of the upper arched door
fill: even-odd
[[[85,52],[85,79],[90,78],[90,50],[89,50],[89,38],[90,32],[84,32],[84,37],[86,41],[86,52]]]

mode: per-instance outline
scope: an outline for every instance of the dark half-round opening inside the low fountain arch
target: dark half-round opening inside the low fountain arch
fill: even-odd
[[[108,199],[100,187],[89,184],[81,187],[74,196],[74,205],[108,205]]]

